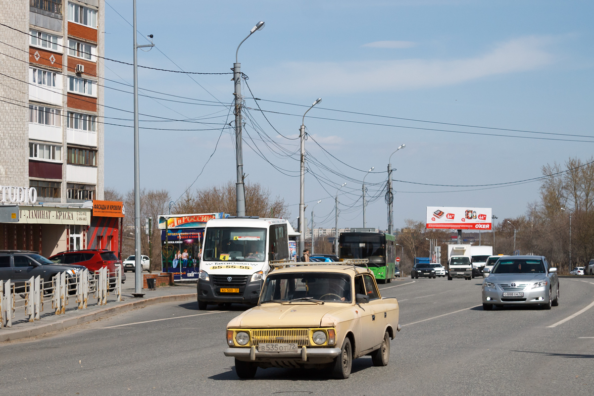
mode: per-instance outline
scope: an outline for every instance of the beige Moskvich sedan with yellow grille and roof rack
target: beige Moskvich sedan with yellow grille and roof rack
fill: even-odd
[[[348,378],[352,359],[390,359],[400,330],[396,298],[382,298],[367,268],[299,265],[271,271],[258,306],[227,325],[225,356],[235,357],[240,378],[259,368],[328,368]]]

